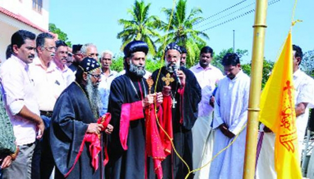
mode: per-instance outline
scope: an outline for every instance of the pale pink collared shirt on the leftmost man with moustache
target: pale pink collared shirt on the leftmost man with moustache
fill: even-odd
[[[35,142],[36,124],[18,114],[23,106],[39,115],[35,98],[35,86],[30,76],[30,68],[15,55],[3,63],[0,78],[4,89],[6,109],[13,125],[17,145]]]

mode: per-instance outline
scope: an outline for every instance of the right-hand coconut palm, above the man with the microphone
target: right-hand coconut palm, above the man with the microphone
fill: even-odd
[[[159,51],[165,47],[164,44],[176,42],[178,45],[186,47],[188,51],[187,66],[191,67],[196,63],[196,57],[199,56],[200,47],[205,46],[203,40],[209,39],[207,34],[196,31],[193,29],[193,23],[201,20],[202,17],[198,16],[202,13],[200,8],[193,8],[189,15],[187,15],[187,0],[179,0],[173,11],[172,9],[163,8],[162,11],[166,13],[167,21],[171,18],[171,23],[161,22],[161,29],[166,32],[166,35],[159,38],[156,42],[162,43]],[[167,32],[169,28],[169,31]]]

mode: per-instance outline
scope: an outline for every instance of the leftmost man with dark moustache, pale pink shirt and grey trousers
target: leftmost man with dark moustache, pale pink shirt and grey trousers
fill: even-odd
[[[11,37],[12,55],[0,69],[5,106],[20,150],[11,166],[3,170],[3,178],[31,178],[35,140],[45,129],[29,67],[35,57],[35,38],[29,31],[15,32]]]

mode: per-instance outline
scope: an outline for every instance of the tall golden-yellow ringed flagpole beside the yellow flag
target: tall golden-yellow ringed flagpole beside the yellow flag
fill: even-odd
[[[255,174],[256,146],[258,135],[259,98],[264,60],[267,0],[256,0],[254,20],[254,40],[252,50],[252,68],[248,125],[245,146],[244,179],[253,179]]]

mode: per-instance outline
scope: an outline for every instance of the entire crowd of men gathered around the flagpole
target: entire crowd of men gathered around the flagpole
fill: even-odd
[[[314,82],[299,69],[301,48],[293,52],[301,148]],[[150,73],[145,42],[132,41],[123,53],[118,73],[110,69],[113,53],[98,57],[94,44],[12,35],[0,68],[1,179],[185,178],[214,156],[189,178],[242,178],[250,77],[239,56],[223,57],[223,74],[205,46],[187,69],[187,49],[170,43],[164,67]],[[256,178],[276,178],[275,136],[260,129]]]

